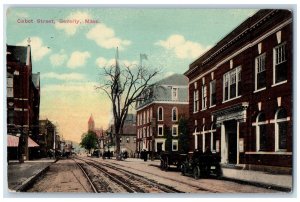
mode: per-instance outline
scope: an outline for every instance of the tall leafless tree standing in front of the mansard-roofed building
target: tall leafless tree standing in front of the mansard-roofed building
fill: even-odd
[[[96,88],[105,92],[112,104],[117,159],[120,154],[120,136],[128,110],[141,98],[142,93],[151,85],[158,73],[158,70],[143,65],[124,65],[120,69],[117,52],[116,64],[104,67],[100,74],[100,85]]]

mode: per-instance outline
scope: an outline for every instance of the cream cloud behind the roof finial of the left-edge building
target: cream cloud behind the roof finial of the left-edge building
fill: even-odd
[[[17,46],[27,46],[27,41],[28,39],[26,38],[22,42],[17,43]],[[32,60],[39,61],[51,52],[47,46],[44,46],[41,38],[34,36],[30,38],[30,41]]]

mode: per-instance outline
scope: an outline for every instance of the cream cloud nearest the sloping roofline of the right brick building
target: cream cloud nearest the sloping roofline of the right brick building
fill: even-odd
[[[173,51],[180,59],[199,57],[209,49],[209,47],[204,47],[197,42],[186,40],[184,36],[178,34],[171,35],[165,41],[159,40],[155,45]]]

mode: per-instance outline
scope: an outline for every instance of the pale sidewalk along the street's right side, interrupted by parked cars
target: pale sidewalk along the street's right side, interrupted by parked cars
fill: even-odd
[[[142,159],[129,158],[128,161],[148,164],[159,167],[159,160],[148,160],[144,162]],[[270,174],[261,171],[240,170],[234,168],[222,168],[222,179],[237,181],[239,183],[253,184],[265,188],[276,189],[280,191],[291,191],[293,186],[292,175]]]

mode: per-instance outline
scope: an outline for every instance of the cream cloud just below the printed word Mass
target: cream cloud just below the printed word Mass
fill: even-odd
[[[106,49],[119,47],[125,49],[131,44],[129,40],[123,40],[115,36],[115,31],[105,24],[98,24],[86,34],[86,38],[94,40],[98,46]]]

